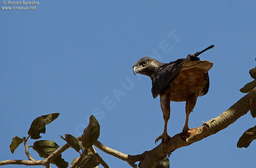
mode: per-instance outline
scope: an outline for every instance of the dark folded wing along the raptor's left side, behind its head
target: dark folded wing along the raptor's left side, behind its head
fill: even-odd
[[[152,81],[152,95],[155,99],[158,94],[165,89],[166,86],[179,74],[182,65],[187,61],[194,61],[190,57],[178,59],[166,64],[162,69],[156,73],[156,78]],[[197,57],[196,60],[199,60]]]

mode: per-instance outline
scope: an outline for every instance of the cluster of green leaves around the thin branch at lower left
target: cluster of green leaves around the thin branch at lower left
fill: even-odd
[[[39,139],[41,133],[45,134],[46,128],[45,126],[52,121],[54,121],[60,113],[51,113],[47,115],[42,115],[37,117],[31,124],[28,130],[28,138],[30,139]],[[82,135],[82,142],[80,142],[76,137],[70,134],[65,134],[65,138],[60,135],[60,138],[65,140],[71,148],[76,150],[76,152],[80,153],[80,158],[76,157],[70,167],[78,166],[79,168],[94,168],[100,163],[94,157],[89,148],[97,141],[100,135],[100,125],[96,118],[92,115],[90,117],[89,125],[84,129],[84,134]],[[10,144],[10,150],[14,153],[14,150],[22,143],[27,143],[28,138],[26,137],[20,138],[15,136],[12,138],[12,142]],[[26,147],[26,146],[25,146]],[[47,158],[53,152],[58,150],[59,146],[56,142],[50,140],[39,140],[34,142],[33,150],[35,150],[40,157]],[[80,150],[82,152],[80,152]],[[76,163],[77,162],[77,163]],[[56,164],[59,168],[67,168],[68,162],[66,162],[63,158],[61,158],[61,154],[58,155],[52,162],[52,164]]]

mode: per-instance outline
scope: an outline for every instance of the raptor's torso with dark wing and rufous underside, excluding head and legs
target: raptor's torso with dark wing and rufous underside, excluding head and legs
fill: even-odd
[[[209,88],[207,72],[212,65],[212,62],[200,61],[199,58],[192,61],[189,57],[166,64],[152,81],[153,97],[156,98],[161,92],[166,92],[166,89],[171,90],[174,95],[172,101],[186,101],[186,95],[194,90],[200,90],[198,96],[206,94]]]

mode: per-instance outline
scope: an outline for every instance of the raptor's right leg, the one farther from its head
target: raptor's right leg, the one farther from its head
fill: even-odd
[[[182,132],[185,133],[189,130],[188,128],[188,117],[189,114],[192,112],[192,110],[194,109],[194,107],[196,106],[196,100],[197,100],[197,93],[193,93],[191,95],[188,96],[187,101],[186,101],[186,121],[185,121],[185,125],[183,127]]]

